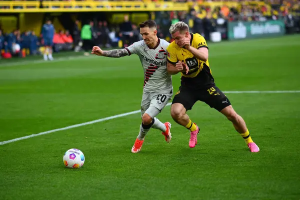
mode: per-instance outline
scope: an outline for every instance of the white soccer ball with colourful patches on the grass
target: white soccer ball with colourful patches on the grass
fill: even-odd
[[[84,155],[81,150],[71,148],[63,154],[62,160],[67,168],[80,168],[84,163]]]

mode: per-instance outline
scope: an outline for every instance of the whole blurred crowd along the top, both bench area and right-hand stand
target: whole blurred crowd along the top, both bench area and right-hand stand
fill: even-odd
[[[155,1],[155,0],[153,0]],[[186,0],[175,0],[186,2]],[[190,0],[188,0],[190,1]],[[226,38],[226,23],[228,21],[264,21],[283,19],[286,32],[300,30],[299,0],[264,0],[269,4],[250,4],[243,0],[235,0],[237,6],[210,6],[203,5],[203,0],[192,1],[189,11],[156,11],[153,12],[158,27],[158,36],[171,41],[168,28],[172,23],[184,21],[192,32],[202,34],[209,40],[209,33],[220,31]],[[231,0],[232,2],[232,0]],[[83,24],[82,26],[80,24]],[[101,47],[128,46],[134,41],[140,40],[138,24],[130,21],[128,15],[124,15],[121,23],[111,24],[107,20],[92,18],[88,21],[75,20],[70,30],[57,30],[54,27],[52,48],[54,52],[61,50],[84,50],[87,55],[92,45]],[[44,46],[42,33],[36,35],[34,31],[14,30],[12,32],[1,31],[0,24],[0,52],[6,56],[24,56],[25,54],[40,54]],[[10,55],[9,55],[10,54]]]

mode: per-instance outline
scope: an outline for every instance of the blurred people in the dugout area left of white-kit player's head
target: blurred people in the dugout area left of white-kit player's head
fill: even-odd
[[[47,20],[47,23],[51,23]],[[42,54],[44,46],[48,46],[48,40],[51,40],[50,46],[54,52],[61,50],[84,50],[88,54],[93,45],[101,47],[111,47],[122,45],[120,41],[127,46],[140,38],[139,30],[136,24],[129,21],[129,16],[124,15],[124,21],[113,26],[108,26],[106,20],[90,20],[80,26],[80,21],[75,20],[71,30],[43,30],[40,35],[34,31],[26,30],[20,32],[15,29],[12,32],[3,34],[0,24],[0,52],[2,57],[11,56],[23,57],[26,54]]]

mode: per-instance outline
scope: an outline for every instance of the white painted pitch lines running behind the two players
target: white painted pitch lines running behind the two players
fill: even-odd
[[[280,90],[278,90],[278,91],[223,91],[223,92],[224,93],[300,93],[300,90],[281,90],[281,91]],[[168,106],[170,104],[171,103],[167,103],[166,105]],[[83,126],[83,125],[88,125],[88,124],[92,124],[92,123],[106,121],[106,120],[109,120],[109,119],[114,119],[114,118],[118,118],[118,117],[122,117],[122,116],[127,116],[127,115],[135,114],[135,113],[138,113],[138,112],[140,112],[140,110],[134,110],[134,111],[131,111],[131,112],[126,112],[126,113],[122,113],[122,114],[108,116],[108,117],[105,117],[105,118],[100,118],[100,119],[96,119],[96,120],[92,120],[92,121],[87,121],[87,122],[84,122],[84,123],[78,123],[78,124],[66,126],[66,127],[63,127],[63,128],[57,128],[57,129],[48,130],[48,131],[45,131],[45,132],[40,132],[40,133],[37,133],[37,134],[30,134],[30,135],[27,135],[27,136],[17,137],[17,138],[9,139],[9,140],[6,140],[6,141],[0,141],[0,145],[6,144],[6,143],[11,143],[11,142],[22,140],[22,139],[27,139],[27,138],[30,138],[30,137],[35,137],[35,136],[43,135],[43,134],[48,134],[48,133],[51,133],[51,132],[57,132],[57,131],[60,131],[60,130],[67,130],[67,129],[71,129],[71,128],[75,128],[75,127],[79,127],[79,126]]]

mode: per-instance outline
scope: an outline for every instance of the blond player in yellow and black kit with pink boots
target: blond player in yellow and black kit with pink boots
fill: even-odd
[[[181,85],[172,101],[171,116],[190,130],[189,147],[196,145],[199,127],[189,119],[186,110],[200,100],[224,114],[244,138],[249,150],[258,152],[259,148],[251,139],[244,120],[234,111],[225,94],[215,86],[204,37],[190,33],[188,25],[182,21],[172,24],[169,31],[174,41],[167,47],[167,71],[169,74],[181,72]]]

